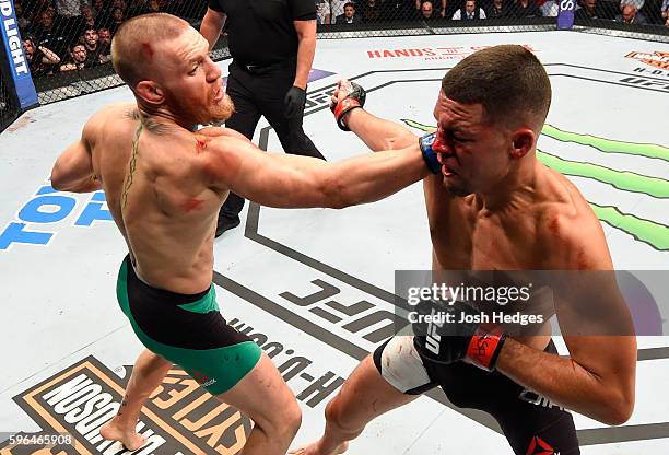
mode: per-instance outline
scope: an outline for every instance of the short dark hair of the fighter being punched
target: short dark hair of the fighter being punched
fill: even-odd
[[[446,73],[442,90],[458,103],[481,104],[492,124],[543,122],[551,105],[551,82],[543,66],[518,45],[476,51]]]

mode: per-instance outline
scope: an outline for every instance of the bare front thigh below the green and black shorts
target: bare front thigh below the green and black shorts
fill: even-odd
[[[292,419],[295,413],[300,415],[295,395],[265,352],[251,371],[216,398],[239,409],[261,428],[277,425],[284,417]]]

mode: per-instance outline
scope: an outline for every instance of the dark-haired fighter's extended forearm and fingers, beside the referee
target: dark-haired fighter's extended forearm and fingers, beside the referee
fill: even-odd
[[[343,101],[352,92],[350,81],[345,79],[339,81],[331,104],[336,105]],[[418,136],[402,125],[376,117],[365,109],[349,110],[344,114],[343,121],[374,152],[403,149],[418,142]]]

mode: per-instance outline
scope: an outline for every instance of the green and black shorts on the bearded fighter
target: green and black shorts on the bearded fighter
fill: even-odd
[[[221,316],[213,284],[190,295],[153,288],[126,256],[116,295],[146,349],[181,366],[212,395],[230,390],[260,360],[258,345]]]

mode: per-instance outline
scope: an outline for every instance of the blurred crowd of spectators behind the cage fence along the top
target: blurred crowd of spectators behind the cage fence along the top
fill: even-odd
[[[558,0],[315,0],[319,24],[387,21],[467,21],[556,16]],[[128,18],[167,12],[201,20],[206,1],[15,0],[23,46],[34,78],[110,60],[111,37]],[[669,0],[578,0],[576,18],[669,26]]]

